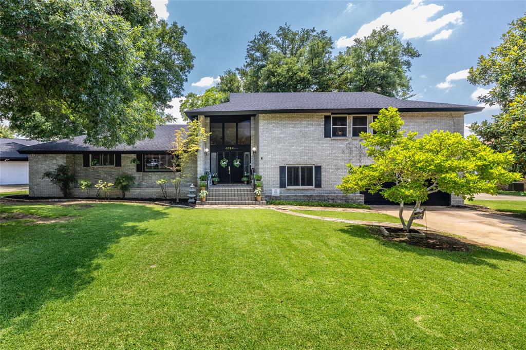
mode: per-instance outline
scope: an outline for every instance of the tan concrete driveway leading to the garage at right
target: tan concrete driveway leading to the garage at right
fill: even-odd
[[[371,208],[398,217],[397,205],[371,205]],[[415,222],[425,225],[427,219],[430,229],[458,234],[475,242],[526,255],[526,220],[470,209],[425,208],[427,218]],[[410,208],[406,208],[404,218],[409,218],[410,214]]]

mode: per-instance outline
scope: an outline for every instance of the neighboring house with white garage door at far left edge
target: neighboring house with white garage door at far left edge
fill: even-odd
[[[37,143],[26,139],[0,138],[0,185],[28,183],[27,155],[21,155],[18,149]]]

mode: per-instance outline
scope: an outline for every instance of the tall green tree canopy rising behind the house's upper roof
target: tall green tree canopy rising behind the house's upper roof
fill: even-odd
[[[227,69],[219,82],[204,92],[188,94],[181,104],[205,107],[228,101],[230,92],[373,91],[409,98],[411,60],[420,53],[403,44],[395,29],[383,26],[353,46],[333,55],[333,40],[326,30],[280,26],[276,35],[262,31],[247,45],[245,64]],[[224,93],[217,98],[219,93]],[[216,98],[210,98],[216,96]]]

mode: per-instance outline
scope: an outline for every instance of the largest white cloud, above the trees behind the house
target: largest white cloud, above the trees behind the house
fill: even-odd
[[[385,12],[380,17],[372,20],[372,22],[362,25],[355,35],[340,37],[336,41],[336,47],[352,46],[355,38],[368,36],[373,29],[383,25],[397,29],[402,34],[402,39],[407,40],[431,35],[448,25],[462,24],[462,12],[460,11],[451,12],[437,19],[430,20],[443,8],[443,6],[436,4],[424,5],[423,0],[412,0],[409,5],[393,12]]]

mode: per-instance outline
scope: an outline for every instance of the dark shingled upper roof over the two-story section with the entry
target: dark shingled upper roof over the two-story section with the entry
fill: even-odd
[[[483,107],[400,100],[375,92],[250,92],[230,94],[230,101],[185,111],[188,117],[211,115],[254,115],[276,112],[376,113],[387,107],[402,112],[478,112]]]

